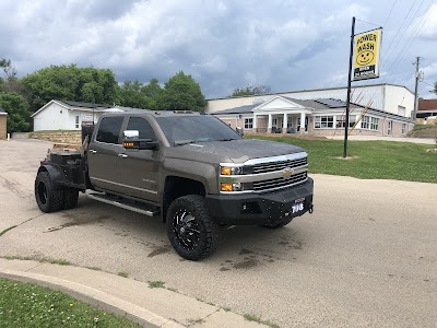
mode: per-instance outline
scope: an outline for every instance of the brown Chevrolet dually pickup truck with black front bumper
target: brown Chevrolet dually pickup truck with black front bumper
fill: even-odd
[[[199,260],[220,225],[276,229],[312,212],[314,183],[298,147],[244,139],[212,115],[127,110],[82,128],[82,148],[49,150],[35,179],[43,212],[72,209],[79,191],[161,216],[175,250]]]

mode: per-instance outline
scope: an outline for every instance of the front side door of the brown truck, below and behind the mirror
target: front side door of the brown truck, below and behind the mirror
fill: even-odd
[[[140,139],[156,141],[156,133],[144,117],[129,117],[127,130],[138,130]],[[161,151],[123,150],[117,157],[119,181],[123,194],[158,202]]]

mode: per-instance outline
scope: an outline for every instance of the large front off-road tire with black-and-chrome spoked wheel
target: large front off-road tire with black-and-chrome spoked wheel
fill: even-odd
[[[175,199],[167,210],[166,227],[173,247],[185,259],[196,261],[217,248],[218,226],[202,196],[188,195]]]

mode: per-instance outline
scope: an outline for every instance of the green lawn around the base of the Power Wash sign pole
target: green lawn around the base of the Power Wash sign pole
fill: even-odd
[[[432,144],[395,141],[349,141],[347,155],[341,159],[343,141],[306,140],[291,137],[247,136],[292,143],[308,153],[309,172],[346,175],[364,179],[395,179],[437,183],[437,153]]]

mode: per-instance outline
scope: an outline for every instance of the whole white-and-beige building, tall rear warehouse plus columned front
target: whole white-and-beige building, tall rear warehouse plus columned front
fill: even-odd
[[[210,99],[208,109],[233,128],[244,127],[248,132],[330,137],[344,130],[345,99],[346,89],[323,89]],[[413,127],[414,95],[404,86],[358,86],[351,102],[352,134],[402,137]]]

